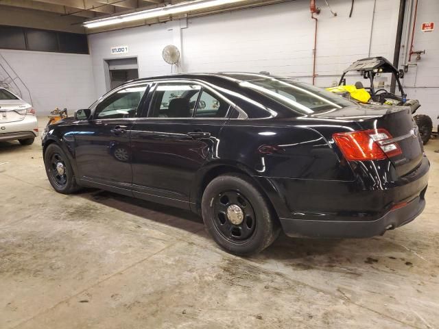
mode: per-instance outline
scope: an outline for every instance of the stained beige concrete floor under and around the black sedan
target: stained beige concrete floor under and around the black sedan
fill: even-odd
[[[364,240],[222,252],[189,212],[55,193],[39,143],[0,143],[0,328],[439,328],[439,140],[427,208]]]

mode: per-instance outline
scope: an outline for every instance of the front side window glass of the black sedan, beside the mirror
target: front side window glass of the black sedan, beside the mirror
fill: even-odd
[[[122,119],[136,116],[147,84],[129,86],[111,94],[96,106],[95,119]]]

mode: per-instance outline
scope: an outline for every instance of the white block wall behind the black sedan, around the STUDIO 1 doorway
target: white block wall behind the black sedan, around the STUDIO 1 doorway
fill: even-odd
[[[322,8],[317,16],[318,86],[337,82],[343,69],[359,58],[384,56],[393,60],[399,0],[357,0],[351,18],[351,1],[329,3],[337,16],[329,12],[324,1],[318,1]],[[439,21],[439,1],[420,1],[418,22],[435,19]],[[178,24],[168,22],[89,36],[96,96],[106,92],[104,59],[120,58],[110,55],[110,48],[118,45],[128,45],[128,56],[137,57],[140,77],[169,73],[161,51],[165,45],[174,44],[182,51],[181,71],[269,71],[311,82],[314,21],[308,0],[189,19],[187,24],[182,23],[185,26],[181,31]],[[438,32],[439,29],[424,36],[428,37],[425,41],[417,35],[422,32],[417,32],[415,44],[428,49],[428,55],[422,60],[423,69],[421,63],[418,65],[416,84],[408,81],[416,72],[410,69],[405,79],[407,86],[437,86],[434,68],[438,68]],[[427,62],[427,56],[431,62]],[[425,80],[420,80],[420,75]],[[416,87],[407,88],[407,93],[420,99],[423,111],[432,108],[434,100],[430,95],[439,97],[436,90]],[[434,111],[428,113],[436,119]]]

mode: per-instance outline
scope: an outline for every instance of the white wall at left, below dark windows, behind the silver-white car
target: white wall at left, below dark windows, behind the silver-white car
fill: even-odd
[[[37,115],[67,108],[87,108],[95,99],[90,55],[0,49],[29,88]],[[27,98],[27,97],[25,97]]]

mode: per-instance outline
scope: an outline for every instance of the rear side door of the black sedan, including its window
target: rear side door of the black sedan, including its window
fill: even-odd
[[[230,105],[211,88],[190,81],[158,82],[132,127],[133,193],[189,208],[195,173],[215,155]]]

